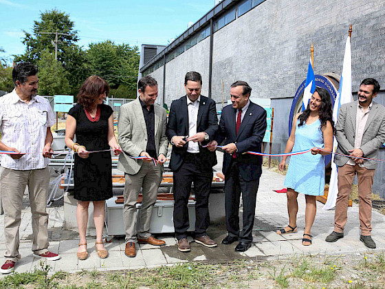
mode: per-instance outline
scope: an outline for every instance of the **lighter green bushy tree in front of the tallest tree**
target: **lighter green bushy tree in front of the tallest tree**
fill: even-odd
[[[71,87],[66,77],[67,72],[61,63],[55,61],[54,54],[43,50],[37,65],[39,67],[39,94],[45,96],[69,94]]]

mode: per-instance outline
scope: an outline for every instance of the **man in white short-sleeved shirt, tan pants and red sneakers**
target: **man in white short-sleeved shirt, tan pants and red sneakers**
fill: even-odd
[[[15,89],[0,98],[1,200],[4,209],[5,264],[0,272],[14,270],[21,258],[19,227],[21,205],[28,184],[32,212],[32,251],[34,257],[58,260],[60,255],[48,250],[48,213],[46,211],[52,156],[54,114],[47,99],[36,96],[37,67],[19,63],[12,70]]]

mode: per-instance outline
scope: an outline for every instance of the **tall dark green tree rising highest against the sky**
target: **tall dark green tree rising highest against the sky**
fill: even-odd
[[[74,21],[69,19],[69,14],[59,10],[46,10],[40,14],[41,21],[34,21],[32,34],[25,32],[23,44],[25,53],[16,56],[15,61],[29,61],[37,63],[43,50],[55,52],[56,33],[58,36],[58,61],[67,63],[67,47],[76,45],[78,41],[77,31],[74,30]]]

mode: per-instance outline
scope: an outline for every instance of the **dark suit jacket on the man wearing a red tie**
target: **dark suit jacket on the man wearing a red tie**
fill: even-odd
[[[221,120],[219,121],[219,136],[217,142],[221,144],[230,144],[234,142],[238,152],[236,152],[236,161],[239,163],[239,173],[243,180],[256,180],[262,173],[262,157],[250,155],[246,151],[261,152],[261,143],[266,131],[266,111],[259,105],[252,103],[243,117],[238,135],[236,134],[236,109],[232,105],[223,107]],[[245,153],[245,154],[243,154]],[[232,155],[225,153],[223,156],[222,171],[226,175],[228,167],[232,161]]]

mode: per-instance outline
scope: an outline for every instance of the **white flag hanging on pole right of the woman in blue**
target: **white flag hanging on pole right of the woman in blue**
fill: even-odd
[[[341,105],[344,103],[351,103],[353,97],[351,96],[351,46],[350,37],[348,36],[347,44],[345,45],[344,64],[342,65],[342,74],[340,79],[340,88],[333,106],[333,120],[334,124],[337,122],[338,112]],[[338,142],[336,138],[333,138],[333,152],[336,151]],[[330,210],[336,206],[336,200],[338,195],[338,178],[337,178],[337,165],[334,163],[334,155],[331,156],[331,176],[329,184],[329,193],[327,194],[327,202],[322,208],[323,210]]]

